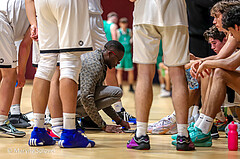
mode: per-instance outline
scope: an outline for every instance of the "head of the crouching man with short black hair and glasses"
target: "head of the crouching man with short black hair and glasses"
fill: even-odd
[[[107,42],[104,45],[104,49],[104,63],[108,66],[108,68],[112,69],[122,60],[125,49],[123,45],[116,40]]]

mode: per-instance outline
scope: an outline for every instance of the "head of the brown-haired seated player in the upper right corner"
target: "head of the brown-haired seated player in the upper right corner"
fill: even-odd
[[[222,27],[222,14],[238,4],[240,4],[239,0],[223,0],[212,7],[211,16],[214,17],[213,24],[216,25],[219,31],[226,32],[226,30]]]

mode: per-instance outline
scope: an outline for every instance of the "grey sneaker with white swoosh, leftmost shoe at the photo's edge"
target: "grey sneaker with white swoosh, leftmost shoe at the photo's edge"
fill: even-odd
[[[23,131],[18,131],[9,120],[6,120],[3,125],[0,125],[0,135],[7,137],[24,137],[26,135]]]

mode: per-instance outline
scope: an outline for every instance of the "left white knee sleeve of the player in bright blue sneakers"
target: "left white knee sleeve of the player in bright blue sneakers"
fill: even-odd
[[[51,81],[57,65],[58,54],[40,54],[40,61],[35,77]]]

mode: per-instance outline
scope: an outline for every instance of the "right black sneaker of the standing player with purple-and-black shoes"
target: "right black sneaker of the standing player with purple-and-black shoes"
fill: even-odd
[[[190,137],[178,135],[176,149],[178,151],[192,151],[195,150],[195,146],[191,141]]]

